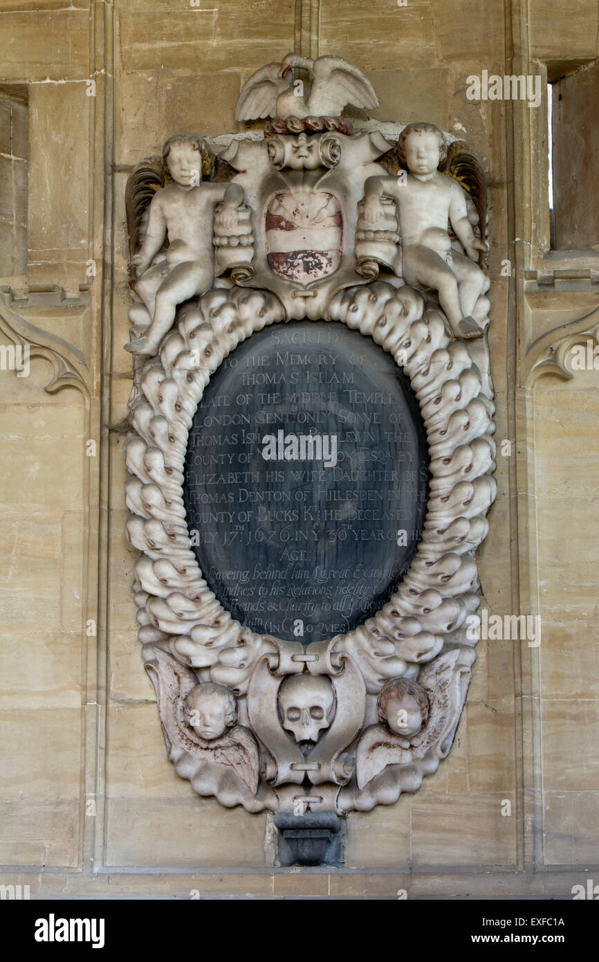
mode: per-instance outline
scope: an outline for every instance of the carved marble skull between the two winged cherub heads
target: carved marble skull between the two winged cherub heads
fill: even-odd
[[[291,674],[279,689],[283,727],[296,742],[317,742],[333,720],[333,686],[322,674]]]

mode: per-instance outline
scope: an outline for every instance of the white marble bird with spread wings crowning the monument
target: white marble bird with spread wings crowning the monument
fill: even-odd
[[[308,92],[303,83],[294,82],[294,67],[308,71]],[[241,90],[235,115],[237,120],[336,116],[347,104],[366,110],[379,106],[378,97],[362,70],[340,57],[311,60],[290,53],[281,63],[266,63],[252,74]]]

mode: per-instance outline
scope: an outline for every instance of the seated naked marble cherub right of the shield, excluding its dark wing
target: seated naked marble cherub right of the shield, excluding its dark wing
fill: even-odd
[[[364,219],[372,225],[385,220],[381,198],[395,200],[404,280],[437,291],[456,337],[481,337],[483,329],[472,312],[488,279],[475,262],[487,244],[474,234],[466,192],[456,179],[439,172],[447,159],[446,140],[434,124],[409,124],[400,134],[397,154],[408,172],[366,180]],[[452,249],[449,225],[465,254]]]

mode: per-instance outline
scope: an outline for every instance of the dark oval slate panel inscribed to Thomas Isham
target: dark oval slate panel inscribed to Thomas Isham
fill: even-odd
[[[189,432],[187,525],[209,587],[257,632],[352,630],[410,567],[428,466],[409,379],[378,344],[337,321],[253,334]]]

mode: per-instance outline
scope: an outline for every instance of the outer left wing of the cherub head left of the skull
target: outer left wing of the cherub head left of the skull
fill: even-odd
[[[180,665],[172,655],[158,647],[154,648],[154,658],[146,662],[145,670],[156,690],[168,757],[175,762],[184,751],[193,752],[196,747],[185,721],[184,701],[191,689],[197,685],[197,678],[191,669]]]

